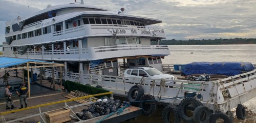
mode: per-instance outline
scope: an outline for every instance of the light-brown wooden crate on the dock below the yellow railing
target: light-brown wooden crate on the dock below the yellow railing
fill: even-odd
[[[60,108],[53,111],[45,112],[46,122],[47,123],[61,123],[70,121],[70,109]]]

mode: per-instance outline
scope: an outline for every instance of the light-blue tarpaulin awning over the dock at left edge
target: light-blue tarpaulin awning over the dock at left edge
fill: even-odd
[[[50,63],[42,60],[34,59],[24,59],[24,58],[14,58],[14,57],[0,57],[0,68],[11,67],[15,65],[25,64],[29,61],[39,62],[39,63]]]

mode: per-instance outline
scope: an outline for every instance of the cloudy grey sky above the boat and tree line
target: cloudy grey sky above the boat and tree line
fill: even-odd
[[[80,0],[77,0],[79,2]],[[74,0],[0,0],[0,44],[5,22]],[[113,12],[160,19],[150,25],[163,28],[167,39],[256,38],[255,0],[84,0],[85,4]]]

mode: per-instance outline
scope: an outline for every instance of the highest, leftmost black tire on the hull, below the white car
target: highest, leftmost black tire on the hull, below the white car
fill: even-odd
[[[135,93],[135,91],[138,91],[137,93],[137,97],[134,98],[132,95]],[[132,86],[129,91],[128,91],[128,94],[127,94],[127,98],[130,102],[134,102],[134,101],[138,101],[140,100],[140,98],[144,95],[144,89],[142,86],[140,85],[134,85]]]

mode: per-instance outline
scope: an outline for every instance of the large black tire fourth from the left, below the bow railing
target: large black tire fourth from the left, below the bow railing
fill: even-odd
[[[179,104],[180,118],[186,123],[194,123],[193,116],[186,115],[186,109],[188,105],[193,105],[194,108],[203,105],[199,100],[194,98],[184,98]]]

